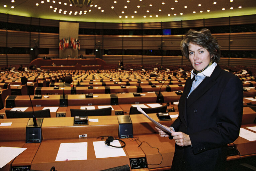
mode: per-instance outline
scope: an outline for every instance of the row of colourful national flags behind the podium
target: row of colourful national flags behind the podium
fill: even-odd
[[[65,37],[59,41],[59,49],[63,50],[68,47],[80,50],[80,41],[77,38]]]

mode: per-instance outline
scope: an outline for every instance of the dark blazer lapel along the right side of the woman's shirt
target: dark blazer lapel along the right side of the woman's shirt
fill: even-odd
[[[199,99],[205,92],[207,92],[216,82],[217,77],[221,72],[221,68],[217,65],[210,77],[205,77],[198,87],[187,98],[187,107],[192,105],[197,99]]]

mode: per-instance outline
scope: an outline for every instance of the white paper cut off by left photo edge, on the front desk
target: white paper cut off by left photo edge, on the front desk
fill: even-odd
[[[27,148],[0,147],[0,168],[4,167],[26,149]]]

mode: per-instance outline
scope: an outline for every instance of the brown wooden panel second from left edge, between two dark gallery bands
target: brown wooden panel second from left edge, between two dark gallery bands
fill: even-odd
[[[8,30],[7,43],[8,47],[29,47],[29,32]]]

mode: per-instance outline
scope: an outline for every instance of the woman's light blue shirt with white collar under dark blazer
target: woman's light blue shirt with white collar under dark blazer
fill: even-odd
[[[194,74],[194,72],[193,72],[194,69],[191,70],[191,79],[193,77],[195,77],[195,80],[192,83],[192,87],[190,89],[188,96],[197,88],[197,86],[203,81],[203,79],[206,76],[211,76],[211,73],[214,71],[216,66],[217,66],[217,63],[214,62],[210,66],[208,66],[204,71],[202,71],[198,74]],[[188,98],[188,96],[187,96],[187,98]]]

